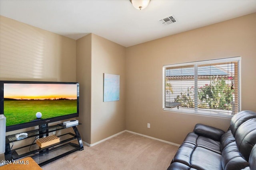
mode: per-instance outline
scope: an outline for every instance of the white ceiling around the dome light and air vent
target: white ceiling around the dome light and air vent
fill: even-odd
[[[94,33],[129,47],[256,12],[256,0],[0,0],[0,15],[72,39]],[[159,20],[174,15],[176,23]]]

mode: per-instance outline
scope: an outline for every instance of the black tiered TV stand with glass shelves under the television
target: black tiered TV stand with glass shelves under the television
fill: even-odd
[[[78,125],[81,125],[81,123],[79,123]],[[32,131],[26,131],[26,133],[28,133],[28,137],[24,139],[16,139],[15,134],[6,136],[6,147],[4,153],[5,160],[13,161],[23,157],[30,156],[38,163],[39,166],[43,166],[72,152],[75,152],[77,150],[83,150],[84,146],[77,126],[72,126],[74,133],[65,133],[59,135],[58,137],[60,138],[60,142],[54,145],[40,148],[35,142],[33,142],[33,139],[36,139],[36,137],[38,136],[48,136],[48,134],[51,132],[60,131],[62,129],[68,128],[64,127],[62,124],[53,126],[46,125],[44,129],[40,128]],[[26,139],[30,139],[30,141],[32,141],[33,143],[24,142],[30,144],[25,144],[24,146],[15,149],[12,149],[10,147],[12,143]]]

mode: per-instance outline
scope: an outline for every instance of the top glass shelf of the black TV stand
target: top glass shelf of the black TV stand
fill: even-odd
[[[78,123],[78,125],[81,125],[81,124],[82,123]],[[57,124],[57,125],[52,125],[52,126],[48,126],[46,128],[43,128],[44,131],[46,131],[44,133],[40,133],[41,129],[35,129],[35,130],[31,130],[31,131],[26,131],[26,133],[28,133],[28,137],[26,137],[26,138],[18,138],[18,139],[16,139],[16,137],[15,137],[16,134],[8,135],[8,136],[6,136],[6,139],[8,139],[8,140],[6,140],[6,143],[12,143],[12,142],[15,142],[15,141],[20,141],[20,140],[23,140],[23,139],[28,139],[30,137],[36,137],[38,135],[43,135],[43,134],[46,134],[46,133],[51,133],[51,132],[54,132],[54,131],[59,131],[59,130],[62,130],[62,129],[67,129],[67,128],[69,128],[69,127],[65,127],[62,124]]]

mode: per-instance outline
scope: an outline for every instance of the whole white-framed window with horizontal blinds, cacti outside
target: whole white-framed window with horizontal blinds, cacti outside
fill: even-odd
[[[234,57],[164,66],[164,110],[220,117],[238,113],[240,59]]]

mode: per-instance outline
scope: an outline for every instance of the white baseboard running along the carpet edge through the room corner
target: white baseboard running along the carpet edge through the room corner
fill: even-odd
[[[176,144],[176,143],[164,141],[164,140],[162,140],[162,139],[157,139],[157,138],[154,138],[154,137],[150,137],[150,136],[147,136],[147,135],[142,135],[142,134],[140,134],[140,133],[136,133],[136,132],[128,131],[128,130],[121,131],[121,132],[119,132],[119,133],[116,133],[116,134],[114,134],[114,135],[112,135],[112,136],[110,136],[110,137],[107,137],[107,138],[105,138],[105,139],[102,139],[101,141],[98,141],[98,142],[93,143],[93,144],[86,143],[85,141],[83,141],[83,143],[84,143],[84,145],[87,145],[88,147],[93,147],[93,146],[95,146],[95,145],[97,145],[97,144],[99,144],[99,143],[102,143],[102,142],[104,142],[104,141],[106,141],[106,140],[108,140],[108,139],[110,139],[110,138],[112,138],[112,137],[115,137],[115,136],[117,136],[117,135],[120,135],[121,133],[124,133],[124,132],[133,133],[133,134],[135,134],[135,135],[140,135],[140,136],[143,136],[143,137],[147,137],[147,138],[150,138],[150,139],[154,139],[154,140],[156,140],[156,141],[168,143],[168,144],[170,144],[170,145],[174,145],[174,146],[178,146],[178,147],[180,146],[179,144]]]

